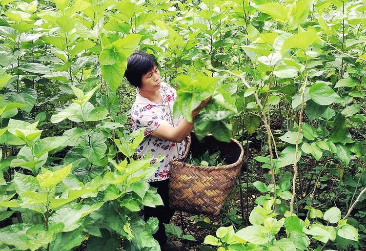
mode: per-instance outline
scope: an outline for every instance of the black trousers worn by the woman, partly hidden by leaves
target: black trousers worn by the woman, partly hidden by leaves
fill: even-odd
[[[143,207],[144,219],[148,220],[149,217],[156,217],[159,220],[159,228],[156,233],[153,234],[155,240],[157,240],[162,247],[166,243],[166,233],[163,223],[169,224],[170,219],[174,214],[174,210],[169,207],[169,179],[163,181],[149,182],[151,187],[158,188],[158,194],[162,197],[164,206],[156,206],[156,208]]]

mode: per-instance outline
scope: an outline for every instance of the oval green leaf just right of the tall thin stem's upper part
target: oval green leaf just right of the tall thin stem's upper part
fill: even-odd
[[[326,84],[318,83],[310,87],[309,95],[311,99],[319,105],[331,105],[337,103],[340,97],[334,90]]]

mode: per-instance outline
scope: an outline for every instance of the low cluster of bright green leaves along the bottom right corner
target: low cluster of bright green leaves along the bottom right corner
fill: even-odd
[[[312,238],[322,243],[334,241],[336,236],[358,240],[357,230],[340,220],[341,212],[336,207],[327,210],[324,214],[325,221],[338,223],[337,226],[329,226],[319,221],[310,223],[307,218],[303,221],[296,215],[277,220],[278,214],[271,209],[274,201],[274,199],[268,200],[264,207],[258,205],[251,211],[249,221],[252,225],[236,232],[232,226],[221,227],[216,231],[216,237],[207,235],[204,243],[223,247],[223,250],[256,248],[268,251],[277,249],[295,251],[307,250]],[[280,236],[277,239],[282,228],[287,233],[287,237]]]

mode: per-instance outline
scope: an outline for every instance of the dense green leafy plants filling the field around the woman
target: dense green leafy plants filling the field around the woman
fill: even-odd
[[[175,115],[191,121],[211,96],[194,121],[198,138],[262,146],[254,161],[269,173],[248,183],[264,193],[252,226],[220,228],[206,243],[277,251],[329,240],[327,248],[362,249],[365,196],[348,223],[340,215],[366,180],[362,2],[0,4],[0,219],[14,223],[0,229],[1,248],[70,250],[88,234],[88,250],[115,249],[118,238],[126,250],[159,249],[156,222],[137,215],[162,203],[146,182],[156,167],[149,156],[135,159],[143,135],[128,132],[124,115],[134,89],[123,73],[139,49],[179,85]],[[295,163],[301,178],[291,184]],[[291,185],[304,221],[286,214]]]

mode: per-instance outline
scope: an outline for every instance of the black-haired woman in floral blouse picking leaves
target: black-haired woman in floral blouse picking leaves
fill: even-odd
[[[136,86],[136,100],[131,109],[132,128],[145,127],[144,139],[137,149],[137,155],[142,157],[151,152],[152,157],[164,156],[154,177],[149,180],[150,186],[158,188],[164,206],[144,207],[144,219],[158,218],[159,229],[153,236],[162,251],[182,250],[181,242],[167,240],[163,223],[168,224],[174,214],[174,210],[169,208],[169,162],[183,155],[185,138],[192,131],[193,122],[182,117],[172,118],[176,90],[161,81],[158,63],[152,55],[141,51],[132,54],[124,75],[130,84]],[[192,111],[192,118],[199,114],[208,101],[209,98]]]

